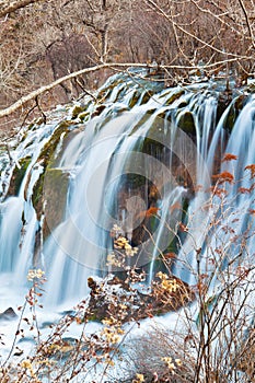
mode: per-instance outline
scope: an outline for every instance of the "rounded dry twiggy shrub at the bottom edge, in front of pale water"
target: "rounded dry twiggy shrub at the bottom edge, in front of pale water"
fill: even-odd
[[[144,382],[194,382],[196,363],[190,339],[157,325],[140,337],[131,337],[124,346],[125,380],[132,382],[136,373]],[[125,371],[126,369],[126,371]]]

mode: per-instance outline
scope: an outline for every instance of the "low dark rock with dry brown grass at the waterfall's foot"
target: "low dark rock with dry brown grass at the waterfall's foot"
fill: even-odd
[[[195,300],[192,289],[181,279],[172,276],[167,279],[167,283],[175,285],[175,289],[166,289],[161,282],[153,282],[149,293],[138,291],[127,280],[117,276],[108,276],[101,281],[90,277],[88,279],[91,288],[88,320],[101,322],[108,316],[117,317],[119,307],[125,305],[127,311],[120,318],[123,323],[140,321],[177,311]]]

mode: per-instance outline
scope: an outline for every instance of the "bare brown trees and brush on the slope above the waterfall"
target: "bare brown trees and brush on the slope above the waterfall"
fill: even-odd
[[[97,89],[127,62],[155,77],[160,69],[166,86],[218,77],[239,88],[254,74],[254,4],[246,0],[3,0],[0,22],[3,137]]]

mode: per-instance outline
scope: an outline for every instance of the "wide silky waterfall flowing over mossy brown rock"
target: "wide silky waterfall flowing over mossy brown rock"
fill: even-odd
[[[219,94],[208,83],[163,89],[116,74],[97,91],[97,102],[84,97],[57,108],[50,123],[21,131],[9,155],[0,152],[0,275],[19,288],[31,267],[43,267],[45,304],[77,302],[88,294],[89,276],[112,270],[106,258],[117,224],[138,247],[148,283],[158,259],[174,248],[172,271],[195,285],[198,248],[199,267],[209,269],[205,240],[216,211],[202,207],[212,198],[211,176],[229,171],[242,179],[255,160],[254,97],[229,127],[237,96],[219,113]],[[241,162],[222,162],[224,152]],[[19,170],[14,193],[9,185]],[[231,193],[240,187],[246,181]],[[235,199],[239,232],[251,224],[242,210],[255,210],[253,194]],[[179,232],[181,221],[188,235]]]

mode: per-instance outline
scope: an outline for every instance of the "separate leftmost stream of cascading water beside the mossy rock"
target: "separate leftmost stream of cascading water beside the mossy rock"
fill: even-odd
[[[12,298],[20,297],[21,287],[26,285],[27,270],[33,265],[35,233],[39,222],[32,205],[32,196],[34,185],[43,171],[37,159],[54,131],[55,125],[53,121],[46,127],[32,129],[26,137],[21,135],[21,142],[18,146],[14,141],[9,143],[9,162],[0,161],[2,166],[0,269],[2,278],[8,280],[8,286],[12,287],[10,291]],[[3,159],[4,154],[5,152],[3,152]],[[12,172],[16,172],[16,174],[21,172],[23,177],[20,179],[18,176],[14,184],[11,184]],[[19,183],[20,185],[18,185]],[[8,192],[5,185],[9,184]],[[3,299],[5,300],[5,297]]]

